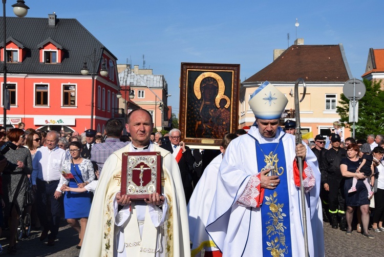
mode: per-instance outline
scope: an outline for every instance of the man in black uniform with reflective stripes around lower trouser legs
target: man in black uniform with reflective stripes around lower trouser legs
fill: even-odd
[[[328,207],[331,215],[332,228],[346,231],[344,179],[340,171],[340,161],[347,157],[347,150],[340,148],[341,139],[337,134],[331,137],[332,148],[322,156],[320,171],[322,172],[322,184],[328,191]]]

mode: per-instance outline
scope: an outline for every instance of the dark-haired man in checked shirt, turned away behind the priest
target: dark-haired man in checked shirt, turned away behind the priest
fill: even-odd
[[[95,144],[91,150],[91,161],[97,164],[99,172],[108,157],[114,152],[126,146],[129,142],[121,142],[120,136],[123,131],[123,124],[117,118],[110,118],[105,124],[104,143]]]

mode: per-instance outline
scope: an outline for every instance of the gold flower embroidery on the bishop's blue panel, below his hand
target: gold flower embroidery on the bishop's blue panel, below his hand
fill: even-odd
[[[271,251],[273,257],[284,256],[284,253],[288,253],[288,247],[285,245],[285,235],[283,225],[284,217],[286,214],[283,212],[284,204],[279,204],[277,199],[278,193],[273,192],[273,195],[265,196],[267,202],[266,205],[269,205],[268,212],[269,220],[266,222],[267,225],[267,235],[270,241],[267,241],[267,250]]]

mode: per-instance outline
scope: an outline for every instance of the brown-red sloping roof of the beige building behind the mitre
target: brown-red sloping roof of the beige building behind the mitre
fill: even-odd
[[[340,45],[292,45],[270,65],[244,82],[307,82],[349,80]],[[349,68],[348,68],[349,69]]]

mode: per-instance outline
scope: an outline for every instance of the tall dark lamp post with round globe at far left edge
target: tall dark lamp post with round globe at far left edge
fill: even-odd
[[[3,0],[3,25],[4,25],[4,66],[3,66],[3,107],[4,107],[4,117],[3,117],[3,125],[4,128],[7,130],[7,106],[6,102],[6,94],[7,94],[7,33],[6,33],[6,16],[5,16],[5,4],[7,3],[7,0]],[[12,5],[13,12],[18,17],[24,17],[27,15],[29,7],[26,6],[25,2],[23,0],[17,0],[17,3]],[[8,104],[7,104],[8,105]]]

